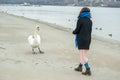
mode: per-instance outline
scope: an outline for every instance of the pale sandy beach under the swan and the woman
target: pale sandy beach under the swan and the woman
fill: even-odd
[[[74,71],[79,51],[72,30],[0,13],[0,80],[120,80],[120,43],[93,37],[92,76]],[[32,54],[27,38],[40,25],[41,50]]]

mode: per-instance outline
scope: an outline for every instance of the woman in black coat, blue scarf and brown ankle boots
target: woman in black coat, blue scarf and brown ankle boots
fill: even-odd
[[[84,65],[86,71],[82,73],[83,75],[91,75],[87,57],[92,32],[92,21],[90,18],[90,9],[87,7],[82,8],[78,16],[76,29],[73,31],[73,34],[76,34],[76,46],[80,51],[80,64],[75,68],[75,71],[82,72],[82,66]]]

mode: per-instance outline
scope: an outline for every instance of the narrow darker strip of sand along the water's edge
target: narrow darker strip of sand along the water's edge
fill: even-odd
[[[65,27],[60,26],[60,25],[56,25],[56,24],[53,24],[53,23],[48,23],[48,22],[40,21],[40,20],[37,20],[37,19],[26,18],[24,16],[17,16],[17,15],[8,14],[8,13],[3,13],[3,14],[14,16],[14,17],[18,17],[18,18],[24,18],[24,19],[31,20],[31,21],[35,21],[35,22],[38,22],[38,23],[50,26],[51,28],[55,28],[55,29],[58,29],[58,30],[63,30],[63,31],[70,32],[71,34],[72,34],[72,31],[73,31],[73,29],[71,29],[71,28],[65,28]],[[92,35],[92,38],[96,39],[96,40],[107,42],[109,44],[111,44],[111,43],[112,44],[118,44],[120,46],[120,41],[118,41],[118,40],[103,38],[101,36],[97,36],[97,35],[94,35],[94,34]]]

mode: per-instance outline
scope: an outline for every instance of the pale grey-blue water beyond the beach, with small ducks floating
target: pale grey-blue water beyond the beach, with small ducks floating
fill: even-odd
[[[75,29],[79,6],[19,6],[1,5],[0,11]],[[90,7],[92,33],[106,39],[120,41],[120,8]]]

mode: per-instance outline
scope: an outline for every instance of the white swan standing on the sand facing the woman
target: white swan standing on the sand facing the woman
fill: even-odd
[[[35,54],[34,48],[38,48],[40,53],[44,53],[43,51],[40,50],[41,38],[40,38],[40,35],[38,34],[39,30],[40,30],[40,27],[37,25],[35,28],[34,34],[29,35],[28,37],[28,42],[32,47],[33,54]]]

